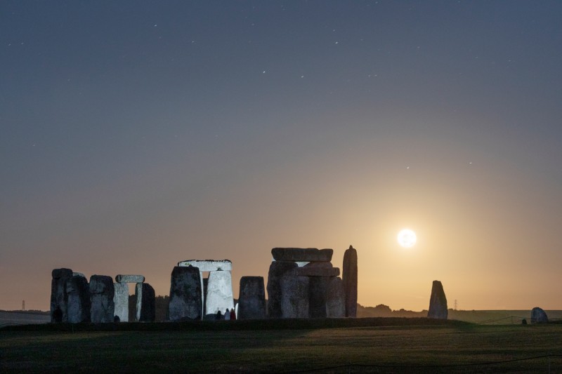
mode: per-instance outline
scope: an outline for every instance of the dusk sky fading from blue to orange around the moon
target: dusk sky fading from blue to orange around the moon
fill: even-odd
[[[562,309],[561,1],[1,1],[0,309],[51,270],[358,251],[358,302]],[[417,234],[412,248],[396,235]]]

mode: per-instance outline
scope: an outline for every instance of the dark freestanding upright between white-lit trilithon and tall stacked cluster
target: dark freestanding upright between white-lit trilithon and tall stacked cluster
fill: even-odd
[[[242,276],[237,319],[266,318],[266,287],[263,276]]]

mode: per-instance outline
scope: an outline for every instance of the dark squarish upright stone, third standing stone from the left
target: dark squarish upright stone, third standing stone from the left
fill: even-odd
[[[115,304],[113,296],[113,279],[107,275],[90,277],[90,319],[92,323],[113,322]]]

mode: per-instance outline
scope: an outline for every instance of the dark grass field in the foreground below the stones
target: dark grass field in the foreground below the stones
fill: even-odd
[[[562,324],[342,319],[18,326],[0,330],[0,355],[2,373],[562,373]]]

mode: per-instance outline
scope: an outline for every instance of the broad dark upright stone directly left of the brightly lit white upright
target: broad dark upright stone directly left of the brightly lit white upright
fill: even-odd
[[[201,285],[199,268],[174,267],[170,281],[170,321],[202,318]]]

